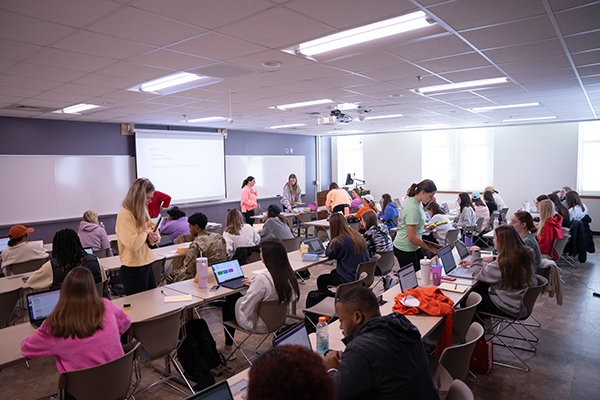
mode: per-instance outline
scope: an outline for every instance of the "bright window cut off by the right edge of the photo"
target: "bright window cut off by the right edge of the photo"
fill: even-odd
[[[600,122],[580,122],[577,191],[581,195],[600,195],[598,154],[600,154]]]

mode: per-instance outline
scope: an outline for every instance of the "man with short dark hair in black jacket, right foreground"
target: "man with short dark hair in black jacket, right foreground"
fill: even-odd
[[[402,314],[381,316],[365,287],[344,293],[335,305],[346,349],[330,351],[323,363],[338,400],[437,400],[419,330]]]

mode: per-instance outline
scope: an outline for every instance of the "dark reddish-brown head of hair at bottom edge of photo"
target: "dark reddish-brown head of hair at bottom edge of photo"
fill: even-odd
[[[306,347],[273,347],[250,368],[248,400],[334,400],[335,384],[323,358]]]

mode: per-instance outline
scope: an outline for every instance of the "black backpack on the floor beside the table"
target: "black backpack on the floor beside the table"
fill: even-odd
[[[215,378],[210,370],[225,365],[221,353],[217,351],[206,321],[192,319],[185,323],[186,338],[177,350],[177,358],[183,367],[185,376],[196,382],[195,391],[213,385]]]

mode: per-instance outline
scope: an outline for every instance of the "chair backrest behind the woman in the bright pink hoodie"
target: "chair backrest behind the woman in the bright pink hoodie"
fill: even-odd
[[[133,349],[116,360],[96,367],[63,372],[58,377],[58,390],[61,398],[69,392],[78,400],[122,400],[129,398],[131,375],[140,356],[141,345],[136,343]],[[135,385],[134,385],[135,387]]]

